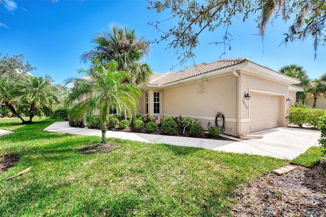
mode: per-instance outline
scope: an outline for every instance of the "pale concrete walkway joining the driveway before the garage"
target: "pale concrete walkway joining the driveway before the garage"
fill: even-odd
[[[101,130],[74,128],[68,122],[56,122],[44,130],[81,135],[96,135],[101,137]],[[248,153],[263,156],[273,156],[281,159],[293,159],[304,153],[311,146],[318,146],[320,131],[277,127],[255,132],[263,135],[262,139],[224,141],[188,137],[173,137],[170,135],[155,135],[123,131],[106,131],[106,137],[149,143],[165,143],[176,146],[207,148],[216,151]],[[235,138],[236,139],[236,138]]]

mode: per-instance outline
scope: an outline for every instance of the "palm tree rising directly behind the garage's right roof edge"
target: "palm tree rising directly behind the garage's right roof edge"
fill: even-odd
[[[285,74],[290,77],[298,78],[300,80],[300,84],[296,85],[298,87],[302,87],[305,91],[297,92],[296,93],[296,100],[305,100],[307,99],[310,94],[306,89],[310,85],[310,79],[308,78],[307,71],[304,69],[303,66],[298,66],[296,64],[291,64],[288,66],[283,66],[279,70],[282,74]]]

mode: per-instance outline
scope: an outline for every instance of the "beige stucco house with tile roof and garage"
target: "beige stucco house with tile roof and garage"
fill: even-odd
[[[154,73],[143,86],[139,114],[185,116],[207,129],[218,112],[225,134],[246,135],[287,125],[300,81],[247,58],[202,63],[180,72]],[[246,97],[247,96],[247,97]]]

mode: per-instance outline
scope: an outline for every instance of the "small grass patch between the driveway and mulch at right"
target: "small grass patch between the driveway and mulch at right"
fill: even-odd
[[[322,149],[320,147],[314,146],[310,147],[305,153],[300,154],[291,160],[291,164],[312,168],[319,164],[321,160],[325,160]]]

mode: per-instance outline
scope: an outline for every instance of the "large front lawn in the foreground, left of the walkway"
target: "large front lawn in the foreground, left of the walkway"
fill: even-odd
[[[14,131],[0,147],[20,161],[0,174],[3,216],[231,216],[233,192],[284,161],[273,157],[127,140],[111,153],[83,155],[99,137],[43,131],[55,120],[0,119]],[[17,178],[6,178],[32,166]]]

